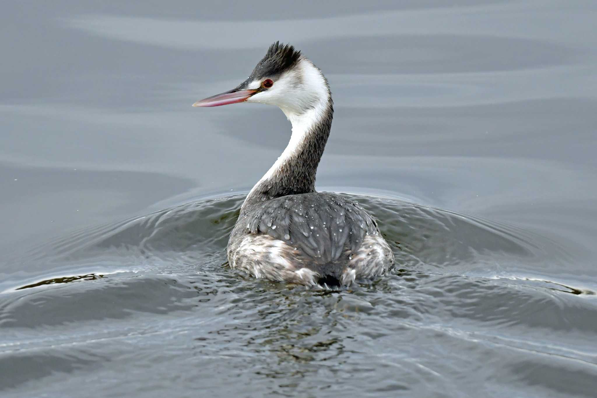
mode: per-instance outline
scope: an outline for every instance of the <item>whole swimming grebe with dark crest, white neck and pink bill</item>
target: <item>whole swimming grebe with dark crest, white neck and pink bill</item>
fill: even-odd
[[[321,70],[293,46],[275,42],[247,80],[193,106],[240,102],[280,107],[293,129],[242,204],[228,242],[230,266],[306,286],[347,286],[384,274],[394,255],[373,216],[336,193],[315,191],[334,113]]]

